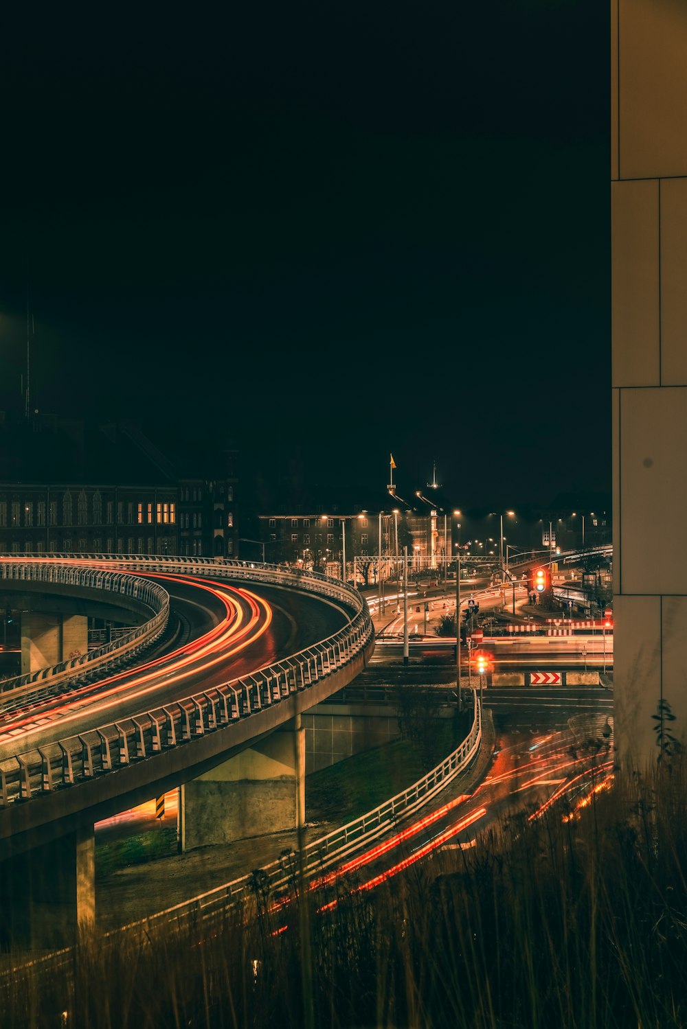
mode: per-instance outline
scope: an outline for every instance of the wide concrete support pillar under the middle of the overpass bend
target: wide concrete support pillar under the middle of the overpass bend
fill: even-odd
[[[300,721],[291,721],[181,786],[181,849],[295,829],[299,811],[305,812],[305,736]]]

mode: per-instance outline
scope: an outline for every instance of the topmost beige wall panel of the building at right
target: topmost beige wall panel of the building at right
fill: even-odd
[[[619,0],[619,176],[687,175],[687,4]]]

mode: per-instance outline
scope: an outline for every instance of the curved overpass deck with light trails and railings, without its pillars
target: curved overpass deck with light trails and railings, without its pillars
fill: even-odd
[[[374,647],[365,601],[324,576],[97,556],[26,568],[48,563],[161,583],[188,638],[135,673],[0,716],[0,859],[196,779],[341,688]]]

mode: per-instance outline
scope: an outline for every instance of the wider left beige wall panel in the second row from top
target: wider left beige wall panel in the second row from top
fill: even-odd
[[[658,386],[658,182],[612,184],[611,242],[612,383]]]

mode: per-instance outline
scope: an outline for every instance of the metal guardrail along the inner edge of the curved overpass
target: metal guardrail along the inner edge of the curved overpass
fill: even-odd
[[[0,560],[0,579],[13,582],[39,582],[45,586],[71,586],[85,590],[107,590],[129,597],[154,611],[142,626],[136,626],[117,639],[84,654],[59,662],[48,668],[5,679],[0,683],[0,711],[19,702],[54,697],[64,690],[65,680],[100,670],[126,653],[133,657],[154,643],[169,620],[169,594],[157,582],[123,572],[74,564],[48,564],[34,561]],[[35,689],[27,686],[37,684]]]

